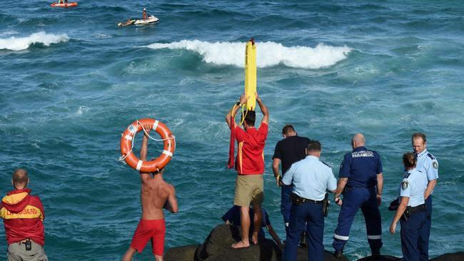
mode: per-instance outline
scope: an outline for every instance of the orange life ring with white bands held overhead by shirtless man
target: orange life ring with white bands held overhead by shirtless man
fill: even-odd
[[[151,161],[140,160],[132,152],[133,137],[136,133],[142,131],[142,126],[145,126],[146,124],[152,126],[152,129],[161,136],[164,143],[161,155]],[[176,140],[169,128],[163,123],[151,118],[143,118],[141,120],[134,121],[126,128],[126,131],[124,131],[121,137],[121,157],[126,160],[127,165],[131,166],[131,168],[143,173],[152,173],[164,168],[171,160],[175,149]]]

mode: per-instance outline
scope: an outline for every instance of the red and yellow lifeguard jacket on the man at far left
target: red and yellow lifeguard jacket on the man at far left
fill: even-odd
[[[29,193],[29,188],[12,190],[1,200],[0,213],[8,245],[30,238],[44,246],[44,207],[38,196]]]

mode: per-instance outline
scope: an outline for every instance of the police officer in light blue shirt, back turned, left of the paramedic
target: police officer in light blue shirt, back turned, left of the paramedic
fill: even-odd
[[[335,192],[337,180],[332,169],[319,157],[321,143],[317,140],[309,141],[306,158],[293,163],[283,176],[282,182],[285,185],[293,185],[290,224],[283,250],[284,261],[296,260],[300,235],[305,229],[308,232],[308,260],[323,261],[323,199],[326,190]]]

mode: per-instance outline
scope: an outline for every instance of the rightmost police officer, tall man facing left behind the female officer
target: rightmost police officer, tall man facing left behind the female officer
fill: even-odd
[[[427,151],[427,138],[423,133],[414,133],[411,137],[415,156],[417,157],[417,169],[427,175],[428,184],[425,190],[425,206],[427,208],[427,219],[425,220],[425,230],[420,236],[419,247],[420,260],[428,260],[428,239],[430,237],[430,225],[432,225],[432,192],[438,179],[438,161]]]

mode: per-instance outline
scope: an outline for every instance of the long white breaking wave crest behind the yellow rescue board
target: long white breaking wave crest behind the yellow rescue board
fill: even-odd
[[[146,46],[153,49],[185,49],[194,51],[203,56],[206,63],[218,65],[232,65],[243,67],[245,61],[245,43],[207,41],[176,41],[169,44],[150,44]],[[286,47],[272,41],[256,43],[256,66],[259,68],[276,66],[279,63],[294,68],[323,68],[332,66],[346,58],[351,51],[347,46],[327,46],[318,44],[309,46]]]

